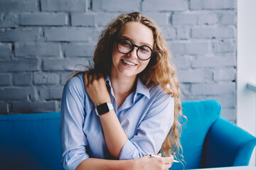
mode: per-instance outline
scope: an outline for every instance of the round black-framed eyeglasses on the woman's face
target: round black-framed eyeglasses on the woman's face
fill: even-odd
[[[117,49],[122,54],[129,54],[134,47],[137,47],[137,57],[139,60],[149,60],[155,54],[155,52],[151,50],[151,47],[147,45],[134,45],[129,39],[121,39],[117,41]]]

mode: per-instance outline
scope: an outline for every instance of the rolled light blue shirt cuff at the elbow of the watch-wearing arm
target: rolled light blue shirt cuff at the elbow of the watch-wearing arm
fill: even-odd
[[[139,150],[132,144],[131,141],[127,140],[119,154],[119,160],[129,160],[137,158],[139,158]]]

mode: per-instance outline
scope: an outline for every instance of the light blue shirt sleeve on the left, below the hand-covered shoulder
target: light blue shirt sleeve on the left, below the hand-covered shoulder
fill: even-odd
[[[82,131],[85,120],[85,90],[80,77],[65,84],[60,110],[60,138],[64,169],[75,169],[89,158],[87,139]]]

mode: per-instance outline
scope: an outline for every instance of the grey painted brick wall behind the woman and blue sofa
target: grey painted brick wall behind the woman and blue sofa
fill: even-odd
[[[130,11],[160,26],[182,101],[216,99],[235,121],[236,0],[1,0],[0,114],[60,111],[68,75],[92,64],[101,30]]]

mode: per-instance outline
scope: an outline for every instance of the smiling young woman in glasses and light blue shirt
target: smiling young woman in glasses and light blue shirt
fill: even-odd
[[[65,169],[171,167],[183,115],[170,57],[159,28],[142,13],[121,15],[103,30],[94,67],[63,90]],[[149,157],[161,151],[164,157]]]

